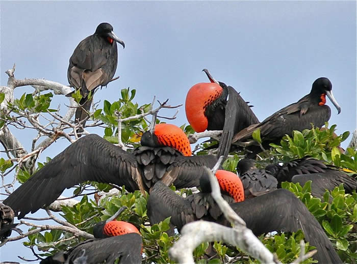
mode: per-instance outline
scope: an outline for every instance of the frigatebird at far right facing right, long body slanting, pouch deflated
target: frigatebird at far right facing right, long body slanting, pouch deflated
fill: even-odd
[[[242,146],[256,144],[252,139],[252,133],[257,129],[260,129],[261,139],[265,143],[263,145],[268,145],[271,142],[279,142],[286,134],[291,136],[293,130],[311,129],[311,123],[320,128],[331,116],[331,109],[325,105],[326,96],[340,113],[341,107],[332,94],[330,80],[321,77],[314,81],[310,94],[275,112],[263,122],[238,132],[232,142]]]

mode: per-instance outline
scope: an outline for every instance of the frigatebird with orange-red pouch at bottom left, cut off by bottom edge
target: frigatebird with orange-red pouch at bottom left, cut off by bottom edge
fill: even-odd
[[[115,221],[114,215],[107,221],[101,221],[93,227],[95,239],[89,239],[67,252],[59,252],[43,259],[41,264],[73,263],[82,255],[87,264],[141,263],[142,239],[139,230],[131,223]]]

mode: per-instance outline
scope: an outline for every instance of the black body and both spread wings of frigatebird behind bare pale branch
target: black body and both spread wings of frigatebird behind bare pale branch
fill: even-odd
[[[198,208],[203,213],[200,213],[199,215],[202,217],[198,218],[197,206],[194,202],[196,195],[198,194],[193,194],[193,197],[189,196],[190,198],[183,198],[161,182],[157,182],[150,190],[147,204],[150,222],[157,223],[171,216],[171,224],[179,230],[186,223],[198,219],[231,226],[217,205],[212,207],[211,204],[202,202]],[[198,200],[202,201],[202,199]],[[206,200],[209,199],[206,198]],[[152,204],[151,212],[149,204]],[[278,189],[241,202],[230,203],[230,206],[243,218],[247,227],[256,236],[272,231],[296,232],[298,229],[302,229],[305,241],[318,250],[313,258],[317,259],[319,263],[342,263],[319,222],[290,191]],[[215,210],[206,209],[211,207]],[[211,212],[214,215],[211,215]]]

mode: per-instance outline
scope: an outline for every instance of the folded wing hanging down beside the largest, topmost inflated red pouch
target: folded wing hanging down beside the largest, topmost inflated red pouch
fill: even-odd
[[[225,158],[230,152],[233,135],[252,124],[259,123],[257,116],[239,93],[232,86],[228,86],[227,89],[228,102],[225,106],[224,127],[217,153],[217,157]]]

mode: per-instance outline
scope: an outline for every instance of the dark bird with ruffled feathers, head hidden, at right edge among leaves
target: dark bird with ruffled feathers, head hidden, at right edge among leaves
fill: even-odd
[[[347,193],[357,189],[356,179],[350,177],[341,168],[326,165],[311,157],[292,160],[284,165],[271,164],[265,169],[276,177],[279,185],[282,182],[293,182],[303,186],[306,182],[312,181],[312,195],[319,198],[323,197],[326,190],[332,191],[341,183]]]

